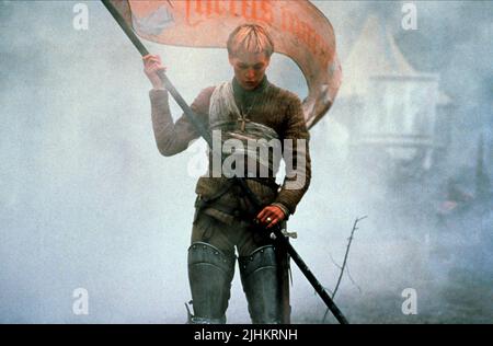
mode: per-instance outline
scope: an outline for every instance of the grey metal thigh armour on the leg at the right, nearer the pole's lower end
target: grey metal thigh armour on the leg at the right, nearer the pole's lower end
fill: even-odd
[[[280,324],[282,291],[274,246],[259,247],[239,263],[252,323]]]

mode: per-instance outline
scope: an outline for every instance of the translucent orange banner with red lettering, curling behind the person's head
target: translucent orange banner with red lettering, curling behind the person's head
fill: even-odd
[[[307,126],[331,107],[341,66],[329,20],[308,0],[114,0],[136,33],[151,42],[186,47],[226,47],[240,24],[257,23],[272,35],[275,51],[301,69],[309,94]]]

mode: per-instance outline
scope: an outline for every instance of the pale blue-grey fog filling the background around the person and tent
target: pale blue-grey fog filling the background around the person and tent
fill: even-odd
[[[88,5],[87,31],[73,28],[77,3]],[[477,157],[482,138],[491,180],[493,4],[420,1],[417,30],[404,31],[403,3],[314,1],[334,26],[343,71],[366,18],[387,19],[409,62],[439,73],[455,104],[451,141],[425,174],[400,181],[371,163],[378,158],[351,154],[336,100],[312,129],[313,178],[289,221],[299,235],[293,243],[332,290],[353,222],[367,216],[335,297],[351,322],[491,323],[492,195],[477,188]],[[146,46],[190,103],[232,76],[226,50]],[[98,1],[0,1],[0,322],[186,322],[202,174],[193,163],[205,158],[204,142],[160,155],[140,56]],[[267,76],[306,96],[289,59],[275,55]],[[470,201],[443,217],[450,180]],[[293,321],[322,322],[323,302],[291,266]],[[238,274],[227,318],[248,323]],[[89,295],[88,314],[74,313],[78,288]],[[403,313],[409,288],[416,314]]]

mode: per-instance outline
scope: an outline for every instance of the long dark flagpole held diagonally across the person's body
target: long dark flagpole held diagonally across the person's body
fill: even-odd
[[[134,46],[137,48],[137,50],[140,53],[140,55],[144,57],[146,55],[149,55],[149,50],[144,46],[144,44],[140,42],[140,39],[137,37],[137,35],[134,33],[134,31],[127,25],[125,22],[125,19],[122,16],[122,14],[118,12],[118,10],[115,9],[113,3],[111,3],[110,0],[101,0],[103,5],[108,10],[108,12],[112,14],[114,20],[118,23],[118,25],[122,27],[122,30],[125,32],[125,34],[128,36],[128,38],[131,41]],[[158,71],[159,78],[161,78],[164,88],[168,90],[168,92],[171,94],[171,96],[176,101],[176,103],[180,105],[180,107],[183,109],[183,113],[185,114],[186,118],[192,123],[193,126],[197,129],[197,131],[200,134],[200,136],[205,139],[209,148],[213,148],[213,139],[210,138],[209,132],[207,129],[202,125],[200,122],[197,119],[197,115],[192,111],[192,108],[188,106],[186,101],[182,97],[182,95],[177,92],[177,90],[174,88],[174,85],[171,83],[171,81],[168,79],[164,71]],[[262,208],[262,204],[256,197],[256,195],[250,189],[250,187],[246,185],[246,182],[243,178],[240,177],[233,177],[234,182],[240,185],[240,187],[243,189],[245,195],[249,197],[249,199],[252,201],[252,204],[257,208]],[[301,256],[298,254],[298,252],[293,247],[293,245],[289,243],[289,241],[286,238],[286,234],[283,232],[284,230],[280,228],[279,224],[276,224],[273,227],[271,233],[273,234],[273,239],[275,239],[276,242],[278,242],[282,246],[284,246],[289,254],[289,256],[293,258],[293,261],[297,264],[301,273],[305,275],[305,277],[310,281],[311,286],[313,286],[317,293],[319,293],[320,298],[322,298],[325,305],[329,308],[329,310],[333,313],[334,318],[339,321],[341,324],[348,324],[347,319],[344,316],[342,311],[337,308],[337,305],[334,303],[332,298],[329,296],[329,293],[325,291],[323,286],[320,284],[320,281],[317,279],[317,277],[311,273],[308,265],[305,263],[305,261],[301,258]]]

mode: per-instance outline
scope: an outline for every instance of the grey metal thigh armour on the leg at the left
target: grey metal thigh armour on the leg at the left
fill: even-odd
[[[234,255],[227,256],[208,243],[195,242],[190,246],[188,280],[194,315],[188,315],[188,323],[226,323],[234,262]]]

